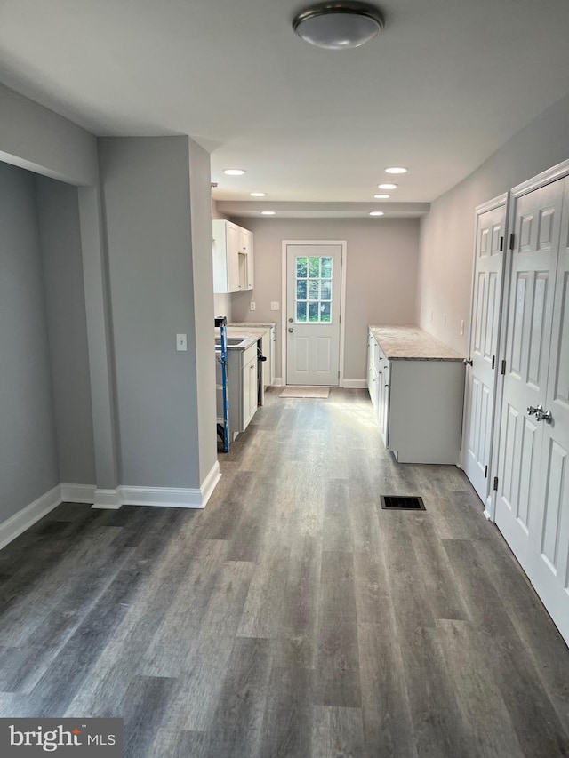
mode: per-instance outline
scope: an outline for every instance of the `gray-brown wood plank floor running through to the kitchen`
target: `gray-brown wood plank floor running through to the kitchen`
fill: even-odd
[[[119,716],[129,758],[569,755],[569,650],[461,471],[397,465],[363,390],[266,398],[204,511],[63,504],[0,552],[0,716]]]

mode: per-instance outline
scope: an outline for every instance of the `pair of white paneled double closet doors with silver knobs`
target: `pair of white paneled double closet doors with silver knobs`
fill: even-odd
[[[516,202],[496,499],[496,523],[567,642],[568,187],[557,180]]]

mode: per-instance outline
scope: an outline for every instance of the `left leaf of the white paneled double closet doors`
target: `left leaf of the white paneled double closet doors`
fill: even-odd
[[[545,425],[526,410],[547,396],[562,198],[563,181],[553,182],[519,197],[514,211],[496,523],[530,579],[547,471]]]

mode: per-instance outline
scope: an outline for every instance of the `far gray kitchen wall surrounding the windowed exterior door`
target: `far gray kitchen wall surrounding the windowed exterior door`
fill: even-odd
[[[368,323],[413,323],[419,244],[418,219],[235,219],[254,234],[253,291],[232,296],[235,321],[276,321],[276,376],[282,377],[283,240],[347,241],[344,378],[365,379]],[[254,300],[256,309],[249,310]]]

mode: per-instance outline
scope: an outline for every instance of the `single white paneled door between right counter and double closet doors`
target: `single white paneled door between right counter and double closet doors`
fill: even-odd
[[[466,371],[462,465],[488,506],[496,395],[501,292],[504,277],[506,200],[501,195],[477,208],[469,359]]]

